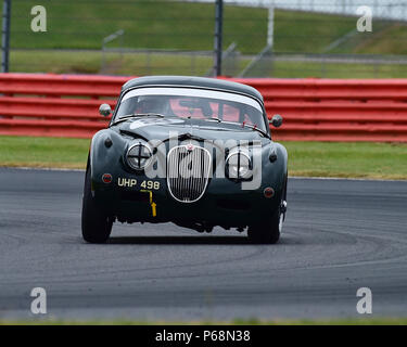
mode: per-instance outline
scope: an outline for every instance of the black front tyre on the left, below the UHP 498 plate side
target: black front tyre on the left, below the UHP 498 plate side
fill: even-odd
[[[89,243],[104,243],[112,232],[113,219],[98,208],[91,193],[90,169],[86,172],[82,200],[82,237]]]

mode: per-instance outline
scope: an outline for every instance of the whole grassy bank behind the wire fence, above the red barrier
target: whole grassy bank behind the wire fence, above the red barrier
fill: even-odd
[[[109,74],[109,75],[205,75],[213,57],[165,53],[107,54],[101,69],[102,39],[124,29],[123,41],[109,48],[212,51],[214,3],[142,0],[126,2],[53,0],[46,4],[48,31],[33,33],[30,0],[12,8],[11,72]],[[160,9],[160,11],[157,10]],[[1,8],[0,8],[1,13]],[[243,54],[234,74],[258,53],[267,41],[267,9],[225,5],[224,48],[236,42]],[[275,11],[276,52],[322,53],[355,30],[356,17],[302,11]],[[372,33],[356,33],[329,53],[406,54],[407,25],[376,20]],[[49,51],[47,51],[49,49]],[[65,51],[52,51],[62,49]],[[94,52],[68,51],[69,49]],[[329,64],[276,62],[262,77],[392,78],[407,77],[404,65]]]

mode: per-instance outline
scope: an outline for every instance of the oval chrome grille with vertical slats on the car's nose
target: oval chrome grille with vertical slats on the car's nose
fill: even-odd
[[[211,168],[207,150],[192,144],[171,149],[167,156],[169,193],[181,203],[199,201],[205,192]]]

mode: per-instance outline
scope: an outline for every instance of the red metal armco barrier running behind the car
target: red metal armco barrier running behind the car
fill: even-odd
[[[0,134],[91,138],[131,77],[0,74]],[[232,79],[281,114],[277,140],[407,142],[407,79]]]

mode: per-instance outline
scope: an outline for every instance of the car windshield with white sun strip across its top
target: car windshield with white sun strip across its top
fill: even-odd
[[[155,87],[133,89],[123,97],[115,120],[137,114],[216,119],[267,131],[262,105],[256,100],[222,91]]]

